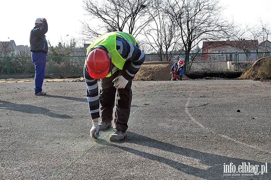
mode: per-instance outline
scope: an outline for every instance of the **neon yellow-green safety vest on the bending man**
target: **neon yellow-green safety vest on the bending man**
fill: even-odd
[[[87,48],[87,53],[89,52],[89,50],[92,47],[97,46],[97,45],[102,45],[110,53],[110,55],[111,55],[111,62],[118,69],[122,70],[123,65],[124,65],[126,59],[123,59],[121,57],[120,53],[117,51],[117,48],[116,48],[116,46],[117,46],[116,45],[116,37],[117,37],[117,35],[123,37],[126,41],[129,41],[130,43],[136,45],[135,38],[132,35],[128,34],[128,33],[124,33],[124,32],[109,32],[109,33],[103,34],[103,35],[99,36],[98,38],[96,38],[92,42],[92,44],[90,44],[89,47]],[[110,75],[111,75],[111,73],[110,73]]]

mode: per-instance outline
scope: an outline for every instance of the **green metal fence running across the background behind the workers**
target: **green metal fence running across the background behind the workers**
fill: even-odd
[[[185,60],[185,72],[243,72],[271,52],[146,54],[145,61]],[[46,74],[83,73],[86,56],[47,56]],[[0,57],[0,74],[34,74],[31,57]]]

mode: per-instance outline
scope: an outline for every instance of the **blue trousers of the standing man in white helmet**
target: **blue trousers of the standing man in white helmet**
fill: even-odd
[[[42,91],[42,83],[45,76],[46,54],[32,52],[32,62],[35,64],[35,94]]]

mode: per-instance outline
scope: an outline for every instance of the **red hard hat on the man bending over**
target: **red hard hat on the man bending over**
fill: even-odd
[[[103,79],[108,74],[110,58],[103,49],[93,49],[87,55],[86,66],[91,77]]]

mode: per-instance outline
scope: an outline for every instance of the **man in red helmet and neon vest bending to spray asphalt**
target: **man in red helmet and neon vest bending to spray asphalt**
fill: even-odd
[[[114,132],[111,141],[123,140],[127,136],[128,119],[132,101],[132,79],[145,60],[135,38],[124,32],[109,32],[96,38],[87,48],[84,78],[87,85],[86,96],[92,118],[90,134],[111,127],[113,108]],[[98,90],[97,79],[101,79]],[[101,105],[101,122],[99,106]]]

